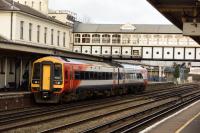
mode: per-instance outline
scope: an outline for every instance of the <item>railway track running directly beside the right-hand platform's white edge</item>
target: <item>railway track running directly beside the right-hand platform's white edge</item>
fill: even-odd
[[[194,93],[197,94],[197,93]],[[191,97],[184,102],[176,101],[169,102],[163,105],[159,105],[156,107],[153,107],[151,109],[144,110],[142,112],[136,113],[136,114],[130,114],[127,116],[123,116],[119,119],[116,119],[114,121],[109,121],[107,123],[104,123],[102,125],[98,125],[93,128],[86,129],[82,131],[82,133],[92,133],[92,132],[110,132],[110,133],[128,133],[128,132],[139,132],[142,127],[145,127],[147,124],[152,123],[155,120],[158,120],[162,118],[163,116],[172,113],[176,111],[179,108],[184,107],[185,105],[188,105],[189,103],[192,103],[200,98],[199,94],[195,95],[190,94],[183,98]],[[193,95],[193,96],[192,96]],[[172,104],[171,104],[172,103]],[[167,106],[167,107],[166,107]],[[162,109],[159,109],[162,108]],[[155,110],[155,111],[153,111]],[[139,117],[138,117],[139,116]],[[49,131],[56,131],[51,130]],[[48,132],[49,132],[48,131]]]

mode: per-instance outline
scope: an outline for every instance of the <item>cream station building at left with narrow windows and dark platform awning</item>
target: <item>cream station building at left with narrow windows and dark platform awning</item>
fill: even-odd
[[[73,25],[50,17],[48,0],[0,0],[0,29],[0,88],[27,88],[35,58],[72,51]]]

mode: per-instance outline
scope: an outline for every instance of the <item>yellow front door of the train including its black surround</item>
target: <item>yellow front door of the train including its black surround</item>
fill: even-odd
[[[42,64],[42,90],[43,91],[50,91],[52,89],[52,67],[51,63],[43,63]]]

